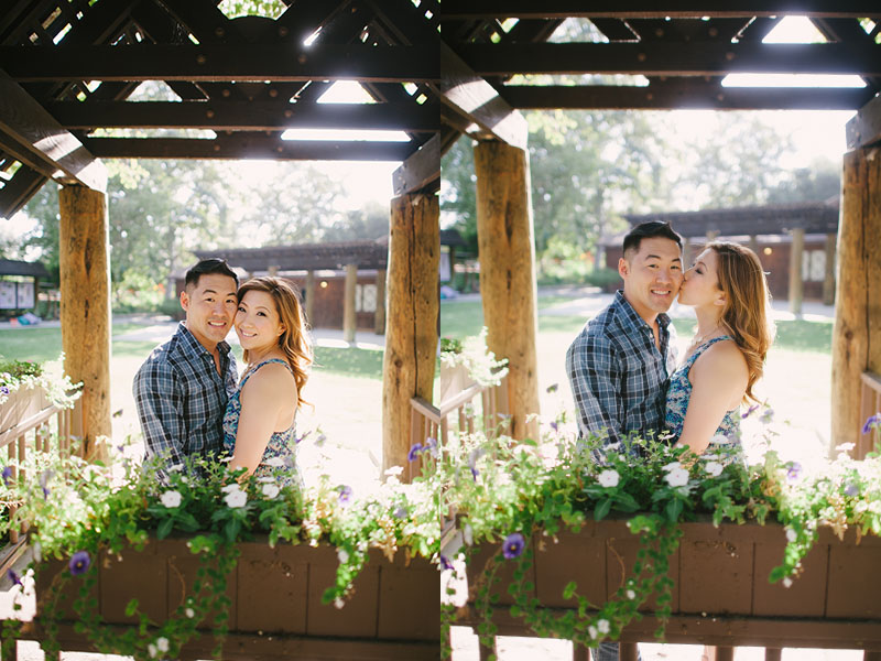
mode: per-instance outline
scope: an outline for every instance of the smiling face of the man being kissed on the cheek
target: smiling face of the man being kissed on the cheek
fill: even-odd
[[[643,319],[653,323],[666,312],[682,285],[682,252],[671,239],[642,239],[638,250],[630,250],[618,262],[624,279],[624,297]]]

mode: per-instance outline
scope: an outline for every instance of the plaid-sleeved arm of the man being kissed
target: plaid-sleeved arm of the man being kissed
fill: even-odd
[[[603,337],[579,335],[566,351],[566,373],[575,398],[578,430],[587,437],[606,431],[606,444],[617,443],[623,430],[620,370],[612,344]]]

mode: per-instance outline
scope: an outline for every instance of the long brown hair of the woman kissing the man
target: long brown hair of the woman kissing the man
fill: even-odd
[[[725,292],[721,323],[743,353],[749,380],[743,401],[758,401],[752,387],[764,373],[768,349],[774,342],[769,317],[771,295],[759,257],[746,246],[730,241],[707,243],[718,257],[718,284]]]

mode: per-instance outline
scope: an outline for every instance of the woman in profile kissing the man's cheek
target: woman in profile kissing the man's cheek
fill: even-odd
[[[739,451],[741,402],[758,401],[773,340],[768,319],[768,283],[755,253],[715,241],[685,272],[679,303],[692,305],[697,330],[685,361],[670,378],[666,427],[694,454]]]

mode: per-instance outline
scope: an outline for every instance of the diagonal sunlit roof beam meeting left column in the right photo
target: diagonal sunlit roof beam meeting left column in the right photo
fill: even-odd
[[[525,118],[443,41],[439,50],[444,77],[434,91],[467,124],[465,132],[475,139],[489,137],[526,149],[529,127]]]

